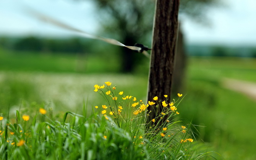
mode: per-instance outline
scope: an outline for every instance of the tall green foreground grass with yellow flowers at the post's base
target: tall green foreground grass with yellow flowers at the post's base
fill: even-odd
[[[52,111],[42,106],[30,115],[18,110],[15,118],[0,115],[0,159],[186,160],[213,156],[214,152],[204,151],[204,145],[194,142],[190,124],[183,126],[175,120],[179,100],[167,103],[168,95],[163,95],[163,102],[155,97],[143,103],[117,92],[111,82],[105,84],[95,85],[94,91],[106,104],[95,106],[88,118],[85,106],[82,114],[66,112],[62,118],[53,118]],[[165,110],[147,124],[149,105]]]

